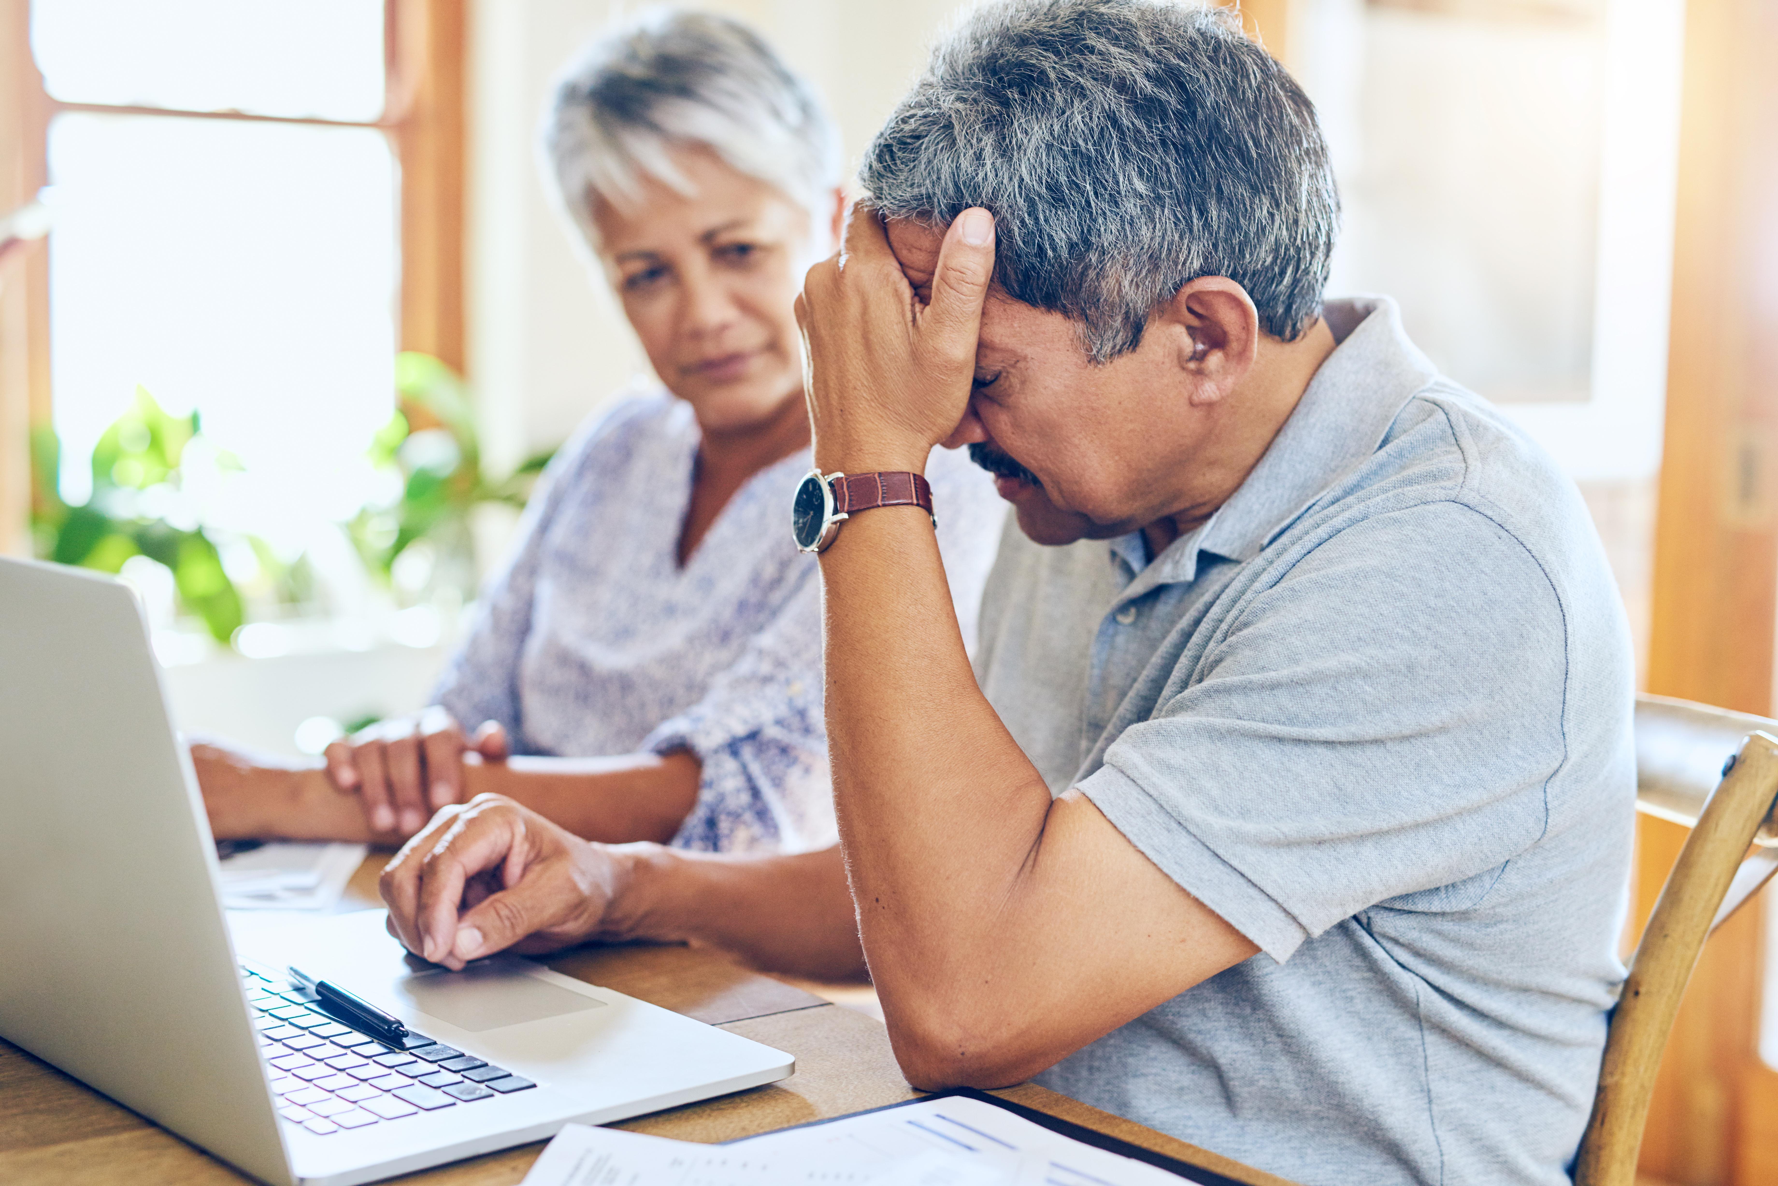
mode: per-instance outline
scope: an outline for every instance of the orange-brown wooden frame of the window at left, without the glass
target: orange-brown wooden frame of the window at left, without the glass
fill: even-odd
[[[48,130],[60,112],[377,128],[400,167],[400,343],[464,366],[464,155],[468,0],[384,0],[388,100],[352,123],[62,103],[30,55],[30,0],[0,0],[0,212],[43,188]],[[52,235],[53,240],[53,235]],[[30,555],[30,430],[50,421],[53,245],[0,261],[0,553]]]

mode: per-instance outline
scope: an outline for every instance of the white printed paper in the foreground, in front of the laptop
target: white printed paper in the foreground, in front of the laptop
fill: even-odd
[[[571,1124],[525,1175],[525,1186],[1179,1186],[1181,1181],[960,1095],[731,1145]]]

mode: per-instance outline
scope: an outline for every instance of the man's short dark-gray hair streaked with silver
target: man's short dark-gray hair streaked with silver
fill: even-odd
[[[964,18],[864,155],[889,217],[996,217],[994,272],[1081,325],[1095,363],[1227,276],[1261,327],[1314,324],[1339,194],[1314,107],[1227,9],[1003,0]]]

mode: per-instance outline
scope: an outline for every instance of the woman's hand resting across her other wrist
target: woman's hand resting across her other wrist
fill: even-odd
[[[327,777],[357,793],[373,832],[412,836],[427,816],[468,798],[462,756],[507,759],[507,731],[487,720],[475,736],[434,704],[418,717],[380,720],[327,747]]]

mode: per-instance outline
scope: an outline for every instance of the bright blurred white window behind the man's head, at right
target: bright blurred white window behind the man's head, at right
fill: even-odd
[[[1305,0],[1291,62],[1344,199],[1332,292],[1570,475],[1661,457],[1680,0]]]

